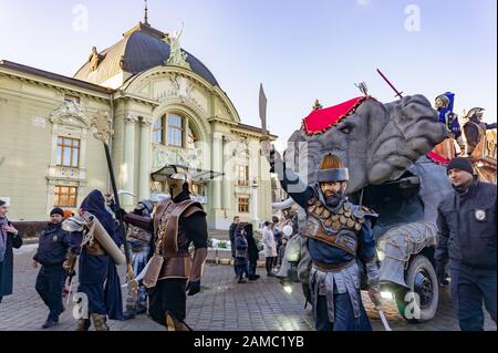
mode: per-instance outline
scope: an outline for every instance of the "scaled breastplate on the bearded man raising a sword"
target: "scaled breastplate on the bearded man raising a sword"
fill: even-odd
[[[317,198],[309,201],[305,236],[356,255],[356,233],[364,218],[356,207],[345,201],[336,214]]]

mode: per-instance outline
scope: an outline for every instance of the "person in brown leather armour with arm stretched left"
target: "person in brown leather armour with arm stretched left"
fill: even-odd
[[[167,331],[188,331],[191,329],[184,322],[187,293],[200,291],[207,256],[206,212],[190,199],[191,183],[186,172],[175,167],[167,183],[172,198],[157,205],[153,219],[126,214],[124,220],[154,233],[155,251],[144,277],[151,318]],[[193,256],[190,243],[195,247]]]

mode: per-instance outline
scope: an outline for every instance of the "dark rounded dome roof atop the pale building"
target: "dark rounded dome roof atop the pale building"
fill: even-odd
[[[169,58],[169,44],[163,40],[166,34],[148,24],[139,22],[123,37],[116,44],[100,53],[94,48],[87,62],[76,72],[74,79],[102,84],[121,72],[134,75],[164,65]],[[193,72],[210,84],[218,85],[205,64],[190,53],[184,52],[188,55],[187,63]]]

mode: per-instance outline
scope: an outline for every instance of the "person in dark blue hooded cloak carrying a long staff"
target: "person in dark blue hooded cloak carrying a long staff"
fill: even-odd
[[[93,190],[80,206],[80,214],[90,212],[95,216],[121,247],[117,222],[107,210],[104,196]],[[104,248],[94,239],[83,246],[80,255],[79,292],[89,298],[89,314],[96,331],[108,331],[106,319],[123,320],[123,299],[116,264]],[[90,319],[77,320],[77,331],[87,331]]]

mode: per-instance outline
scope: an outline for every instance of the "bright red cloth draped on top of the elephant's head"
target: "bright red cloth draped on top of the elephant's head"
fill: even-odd
[[[302,121],[302,128],[308,135],[321,134],[338,124],[342,118],[353,114],[356,107],[370,96],[360,96],[347,102],[311,112]]]

